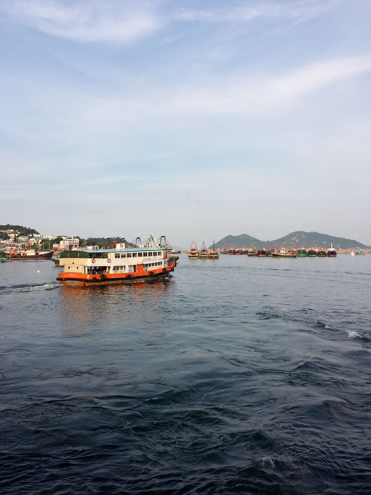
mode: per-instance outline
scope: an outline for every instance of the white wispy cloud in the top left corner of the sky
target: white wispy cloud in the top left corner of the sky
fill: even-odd
[[[161,27],[157,2],[4,0],[0,10],[49,35],[83,42],[130,42]]]

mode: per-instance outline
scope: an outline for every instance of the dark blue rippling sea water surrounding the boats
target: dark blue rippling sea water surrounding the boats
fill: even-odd
[[[371,493],[371,255],[57,271],[0,265],[2,495]]]

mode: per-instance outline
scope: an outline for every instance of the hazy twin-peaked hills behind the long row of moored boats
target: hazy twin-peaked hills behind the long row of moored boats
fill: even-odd
[[[277,243],[278,247],[281,247],[282,244],[285,244],[288,247],[296,244],[296,247],[299,248],[302,247],[304,243],[306,244],[306,247],[310,247],[313,243],[313,247],[321,247],[323,245],[326,249],[332,242],[336,249],[354,250],[370,248],[369,246],[365,246],[354,239],[329,236],[328,234],[320,234],[319,232],[304,232],[302,230],[291,232],[290,234],[287,234],[287,236],[280,237],[279,239],[275,239],[273,241],[260,241],[259,239],[248,236],[247,234],[227,236],[221,239],[218,243],[215,243],[215,245],[220,249],[223,248],[224,244],[227,244],[227,247],[229,247],[230,244],[232,244],[233,247],[235,244],[238,244],[238,247],[241,247],[242,244],[245,247],[250,247],[250,244],[254,243],[255,247],[263,247],[266,242],[269,247],[272,247],[274,243]]]

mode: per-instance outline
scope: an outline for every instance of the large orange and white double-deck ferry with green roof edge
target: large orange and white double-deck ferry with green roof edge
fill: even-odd
[[[165,278],[176,262],[168,260],[167,246],[158,245],[149,236],[144,246],[116,244],[111,249],[62,251],[63,271],[57,280],[64,285],[134,284]]]

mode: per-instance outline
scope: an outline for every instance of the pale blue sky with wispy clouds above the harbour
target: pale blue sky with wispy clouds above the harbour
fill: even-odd
[[[0,0],[0,223],[371,245],[369,0]]]

